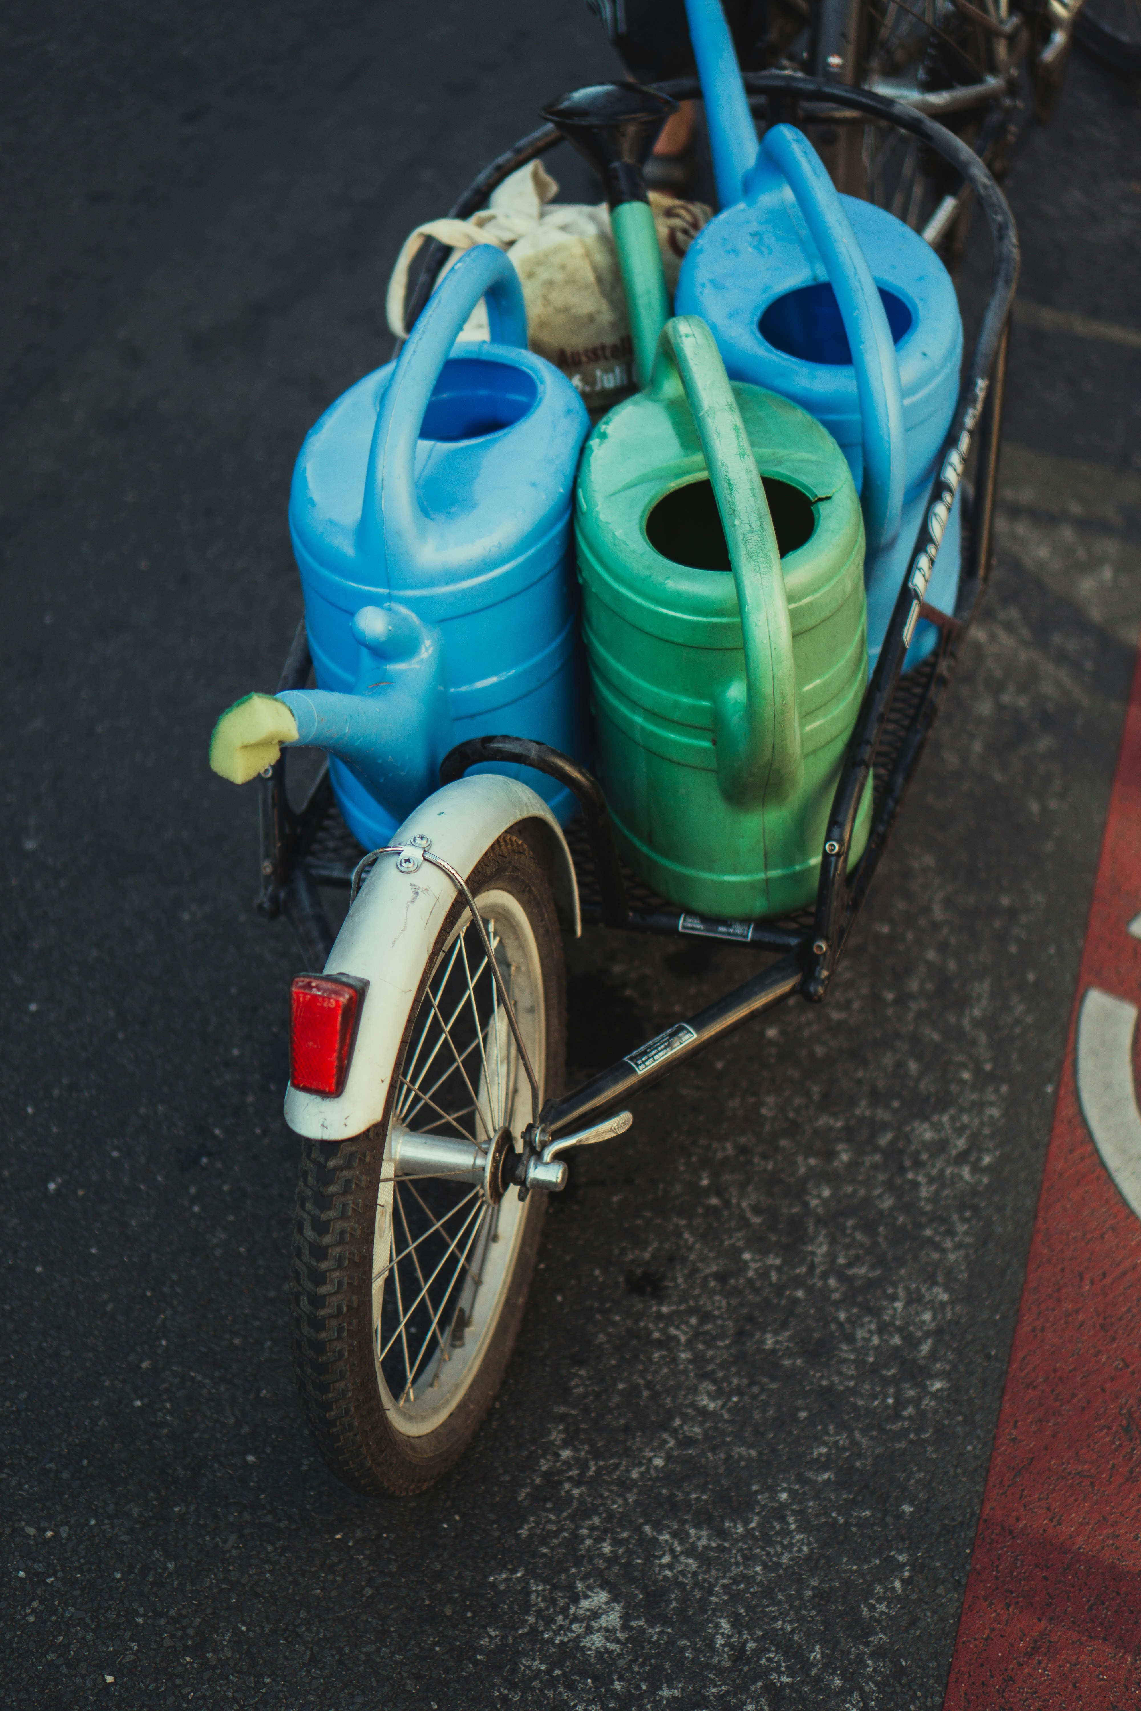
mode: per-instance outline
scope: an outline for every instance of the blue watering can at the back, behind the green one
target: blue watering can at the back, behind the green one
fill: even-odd
[[[864,506],[874,667],[958,397],[963,323],[951,277],[895,216],[837,193],[792,125],[758,149],[718,0],[686,0],[724,212],[698,234],[674,313],[701,315],[725,368],[792,399],[838,440]],[[958,503],[927,599],[955,611]],[[934,647],[920,625],[915,666]]]

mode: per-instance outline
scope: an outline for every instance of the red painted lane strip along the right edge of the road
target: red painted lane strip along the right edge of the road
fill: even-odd
[[[1139,912],[1141,655],[944,1711],[1141,1708],[1141,1220],[1074,1075],[1083,996],[1141,1006]]]

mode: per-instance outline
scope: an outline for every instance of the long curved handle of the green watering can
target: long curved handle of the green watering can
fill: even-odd
[[[676,395],[679,383],[701,440],[741,607],[744,683],[730,683],[717,700],[717,777],[730,802],[778,802],[804,780],[789,595],[749,436],[713,334],[698,315],[677,315],[662,329],[648,394]]]

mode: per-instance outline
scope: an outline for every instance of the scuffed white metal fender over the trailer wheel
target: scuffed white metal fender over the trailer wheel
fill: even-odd
[[[445,784],[393,832],[392,844],[423,833],[431,838],[431,854],[467,879],[496,838],[520,821],[530,821],[541,849],[546,845],[559,914],[578,936],[578,883],[566,838],[542,797],[515,779],[474,773]],[[380,1121],[412,1001],[455,897],[448,876],[429,862],[399,873],[395,856],[381,856],[373,866],[325,963],[328,975],[368,980],[349,1076],[337,1098],[289,1086],[286,1122],[298,1134],[344,1141]]]

